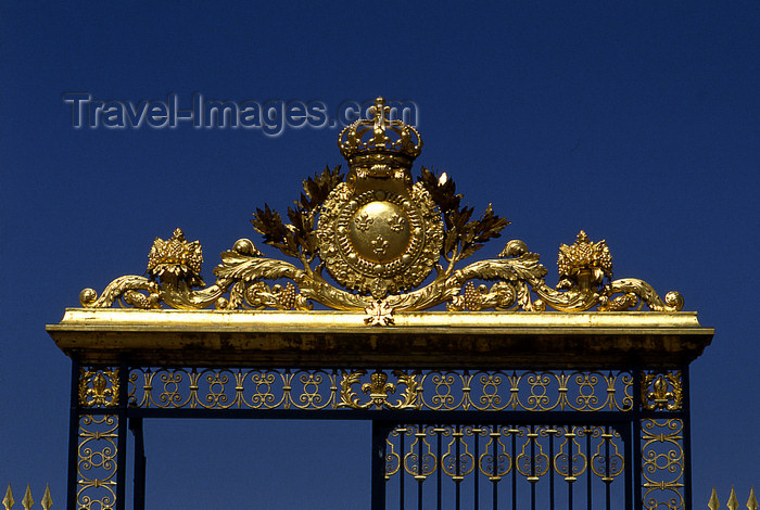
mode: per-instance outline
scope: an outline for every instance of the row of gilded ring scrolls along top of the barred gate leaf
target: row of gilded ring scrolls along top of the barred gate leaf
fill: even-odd
[[[610,484],[625,468],[620,434],[604,426],[408,424],[385,443],[387,481],[405,473],[423,482],[440,469],[455,483],[473,475],[498,483],[515,471],[531,484],[555,475],[568,484],[587,476]]]

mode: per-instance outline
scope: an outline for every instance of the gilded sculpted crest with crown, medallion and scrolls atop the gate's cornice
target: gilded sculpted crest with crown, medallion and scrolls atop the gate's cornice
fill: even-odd
[[[389,119],[388,113],[378,98],[368,119],[341,132],[347,174],[340,167],[326,168],[305,179],[301,199],[288,209],[289,224],[268,205],[254,214],[254,229],[264,242],[297,264],[267,258],[241,239],[221,254],[214,269],[217,280],[205,286],[201,245],[186,241],[177,229],[168,241],[156,239],[149,254],[149,278],[117,278],[101,296],[85,289],[79,302],[94,308],[119,302],[144,309],[163,303],[179,309],[214,305],[220,310],[311,310],[317,303],[337,310],[370,310],[366,322],[373,326],[392,324],[397,313],[444,304],[459,311],[683,307],[676,292],[663,301],[642,280],[611,281],[609,247],[605,241],[590,241],[583,231],[574,244],[560,246],[556,288],[546,284],[547,270],[539,255],[518,240],[509,241],[498,258],[458,267],[498,238],[509,221],[491,205],[473,217],[473,208],[461,205],[463,195],[446,174],[435,176],[422,168],[414,182],[410,168],[422,141],[413,127]],[[341,288],[324,276],[325,270]],[[378,309],[389,311],[378,320]]]

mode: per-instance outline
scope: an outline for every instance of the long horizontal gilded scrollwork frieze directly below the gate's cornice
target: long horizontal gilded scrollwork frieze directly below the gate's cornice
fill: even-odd
[[[392,377],[391,377],[392,375]],[[401,387],[404,387],[401,391]],[[396,393],[397,392],[397,393]],[[132,369],[140,408],[631,411],[630,372]]]

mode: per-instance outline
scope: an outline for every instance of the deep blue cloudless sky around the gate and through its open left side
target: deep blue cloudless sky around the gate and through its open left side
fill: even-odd
[[[304,177],[343,163],[337,129],[75,129],[63,101],[200,92],[414,101],[415,175],[445,170],[512,221],[484,255],[522,239],[553,275],[559,244],[585,229],[607,240],[616,277],[680,291],[715,328],[692,367],[695,501],[760,486],[758,2],[5,2],[0,34],[0,484],[50,483],[64,505],[69,362],[43,327],[81,289],[141,273],[176,227],[201,241],[213,281],[237,239],[262,246],[256,207],[284,211]],[[150,423],[149,502],[356,508],[369,481],[345,466],[367,462],[368,433]],[[275,485],[273,462],[297,482]],[[309,474],[322,470],[329,488]]]

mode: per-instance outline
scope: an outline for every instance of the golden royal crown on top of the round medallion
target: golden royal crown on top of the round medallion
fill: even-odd
[[[390,113],[385,100],[378,98],[368,110],[369,118],[358,119],[343,128],[338,146],[349,167],[411,167],[422,151],[422,139],[414,127],[398,119],[389,119]]]

